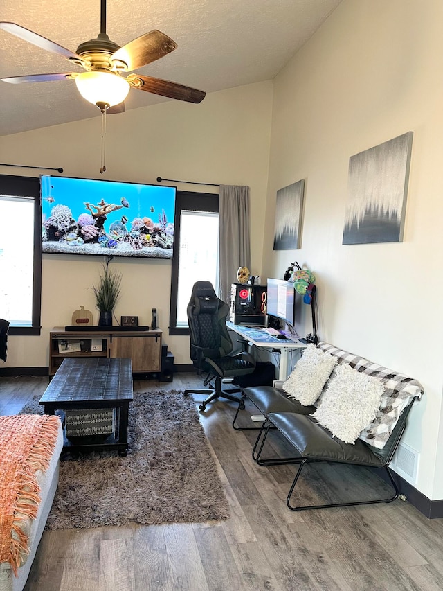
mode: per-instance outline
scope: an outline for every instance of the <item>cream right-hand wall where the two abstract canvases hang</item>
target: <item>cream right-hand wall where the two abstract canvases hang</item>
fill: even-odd
[[[275,79],[269,199],[305,179],[302,247],[273,252],[317,276],[319,336],[417,378],[425,396],[404,441],[419,452],[413,483],[443,498],[443,4],[343,0]],[[413,131],[404,241],[342,245],[349,158]],[[307,308],[307,307],[306,307]],[[310,315],[305,310],[305,326]]]

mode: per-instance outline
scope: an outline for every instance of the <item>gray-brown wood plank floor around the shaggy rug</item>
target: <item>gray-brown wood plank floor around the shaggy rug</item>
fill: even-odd
[[[47,384],[47,378],[0,378],[0,414],[19,412]],[[134,391],[196,384],[199,378],[183,373],[172,383],[135,380]],[[443,589],[443,520],[428,520],[400,500],[289,511],[293,466],[260,468],[253,462],[254,432],[230,425],[235,406],[219,400],[201,413],[230,519],[45,531],[25,591]],[[275,439],[273,445],[280,443]],[[341,497],[355,498],[383,493],[386,486],[365,469],[309,466],[299,495],[312,502],[341,488]]]

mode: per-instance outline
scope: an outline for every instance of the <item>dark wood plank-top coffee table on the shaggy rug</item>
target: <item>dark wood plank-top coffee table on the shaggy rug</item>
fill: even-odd
[[[115,428],[109,436],[64,439],[64,450],[118,450],[127,455],[129,403],[133,400],[130,359],[65,359],[39,403],[45,414],[56,410],[116,409]]]

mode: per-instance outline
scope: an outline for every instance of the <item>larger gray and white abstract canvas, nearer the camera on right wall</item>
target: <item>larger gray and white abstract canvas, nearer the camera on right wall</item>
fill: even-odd
[[[349,159],[343,244],[401,242],[413,132]]]

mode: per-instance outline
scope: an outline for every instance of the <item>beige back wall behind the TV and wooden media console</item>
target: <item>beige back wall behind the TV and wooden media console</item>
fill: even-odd
[[[82,100],[80,97],[78,100]],[[32,103],[30,103],[32,105]],[[156,183],[156,177],[251,187],[252,271],[260,274],[271,133],[272,82],[209,94],[200,105],[168,101],[107,118],[107,173],[113,180]],[[64,168],[64,175],[100,178],[100,114],[77,123],[0,138],[0,161]],[[13,171],[11,173],[11,170]],[[0,167],[0,173],[17,169]],[[24,169],[23,175],[32,175]],[[208,191],[181,185],[188,191]],[[212,189],[217,191],[217,189]],[[103,258],[104,259],[104,258]],[[10,337],[3,367],[48,365],[48,331],[71,324],[80,305],[94,308],[91,285],[102,257],[43,255],[42,336]],[[171,261],[115,258],[123,273],[116,317],[138,315],[159,326],[178,364],[188,363],[189,337],[168,335]],[[237,269],[233,270],[233,281]]]

